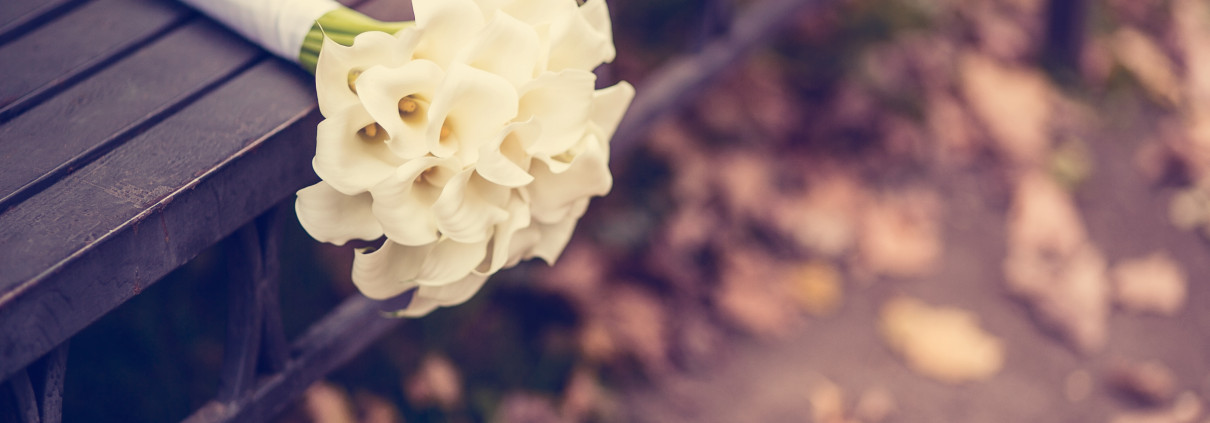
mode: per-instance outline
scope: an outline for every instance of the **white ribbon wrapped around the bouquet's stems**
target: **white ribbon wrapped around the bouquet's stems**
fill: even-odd
[[[298,62],[315,21],[340,4],[333,0],[183,0],[273,54]]]

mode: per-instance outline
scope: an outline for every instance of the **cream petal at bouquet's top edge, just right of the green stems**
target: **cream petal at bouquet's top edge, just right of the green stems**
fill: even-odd
[[[483,29],[484,17],[471,0],[414,0],[416,28],[424,33],[415,57],[449,69],[450,62]]]

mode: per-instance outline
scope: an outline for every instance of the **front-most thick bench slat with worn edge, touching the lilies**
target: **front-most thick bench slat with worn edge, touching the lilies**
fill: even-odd
[[[318,120],[265,60],[0,215],[0,379],[312,182]]]

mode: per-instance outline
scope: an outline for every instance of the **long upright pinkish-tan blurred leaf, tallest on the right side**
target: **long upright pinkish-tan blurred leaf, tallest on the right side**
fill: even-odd
[[[1079,350],[1091,353],[1105,344],[1110,313],[1105,259],[1088,242],[1071,197],[1039,173],[1018,182],[1004,276],[1009,290]]]

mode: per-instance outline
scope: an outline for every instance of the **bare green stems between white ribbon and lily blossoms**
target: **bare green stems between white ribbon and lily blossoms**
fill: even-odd
[[[362,15],[348,7],[338,7],[324,13],[307,31],[302,40],[302,50],[299,51],[299,64],[302,69],[315,74],[315,66],[319,62],[319,50],[323,48],[323,39],[328,37],[342,46],[352,46],[357,34],[367,31],[384,31],[394,34],[399,30],[415,25],[415,22],[382,22]]]

